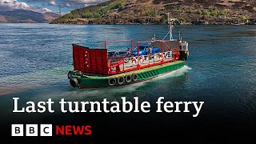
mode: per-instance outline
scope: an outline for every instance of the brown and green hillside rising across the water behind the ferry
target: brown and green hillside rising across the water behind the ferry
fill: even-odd
[[[176,24],[255,24],[255,0],[110,0],[72,10],[51,23],[164,24],[166,13]]]

